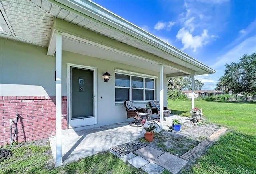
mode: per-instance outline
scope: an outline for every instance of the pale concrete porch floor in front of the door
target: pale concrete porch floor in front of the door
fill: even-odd
[[[172,119],[176,115],[165,117],[164,129],[169,129]],[[189,121],[186,117],[179,117],[182,122]],[[130,122],[130,121],[129,121]],[[116,123],[77,131],[62,135],[62,161],[63,164],[75,162],[81,158],[108,151],[111,147],[122,145],[130,141],[144,137],[142,127],[131,127],[129,122]],[[56,138],[49,137],[54,164],[56,165]]]

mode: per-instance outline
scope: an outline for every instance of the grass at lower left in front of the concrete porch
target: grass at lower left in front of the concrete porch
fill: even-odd
[[[12,148],[12,156],[0,164],[0,174],[146,174],[110,152],[99,153],[78,162],[55,168],[50,144],[25,143]]]

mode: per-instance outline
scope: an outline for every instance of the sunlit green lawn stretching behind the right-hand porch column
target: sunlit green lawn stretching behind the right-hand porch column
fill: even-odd
[[[208,121],[229,129],[256,136],[256,103],[195,101],[195,108],[202,108]],[[190,117],[191,101],[168,101],[174,114]]]

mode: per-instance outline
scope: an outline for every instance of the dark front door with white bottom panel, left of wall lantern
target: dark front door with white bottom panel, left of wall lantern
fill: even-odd
[[[70,127],[95,124],[94,70],[71,67],[70,78]]]

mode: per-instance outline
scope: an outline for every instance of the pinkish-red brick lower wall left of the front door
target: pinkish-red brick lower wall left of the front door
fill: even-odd
[[[55,135],[55,96],[0,96],[0,145],[10,143],[10,119],[18,121],[18,142]],[[62,129],[67,129],[67,97],[62,96]],[[15,125],[12,125],[14,133]]]

